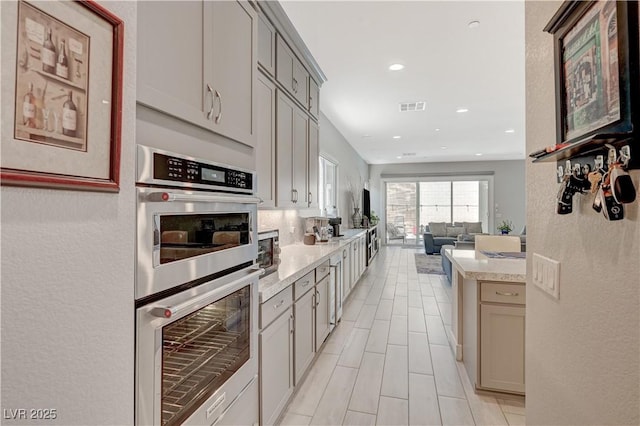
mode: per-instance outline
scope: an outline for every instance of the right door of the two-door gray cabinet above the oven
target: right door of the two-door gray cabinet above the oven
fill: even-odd
[[[205,1],[204,7],[204,79],[213,91],[207,97],[212,129],[255,146],[256,11],[247,1]]]

